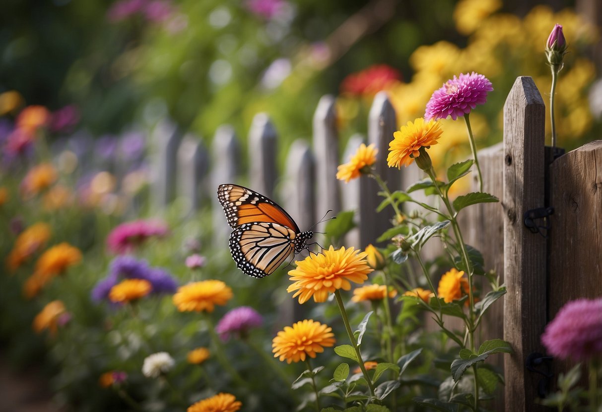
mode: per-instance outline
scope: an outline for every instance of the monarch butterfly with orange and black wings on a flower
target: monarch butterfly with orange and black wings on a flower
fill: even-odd
[[[230,235],[230,252],[237,267],[252,277],[272,274],[291,253],[305,249],[312,231],[299,226],[276,202],[237,184],[220,184],[217,199],[222,204]]]

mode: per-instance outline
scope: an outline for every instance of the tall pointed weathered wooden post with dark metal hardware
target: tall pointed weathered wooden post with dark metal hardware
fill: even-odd
[[[535,404],[541,375],[525,368],[541,352],[546,321],[546,241],[523,221],[544,206],[545,106],[531,77],[518,77],[504,104],[504,339],[514,354],[504,359],[506,411],[544,410]]]

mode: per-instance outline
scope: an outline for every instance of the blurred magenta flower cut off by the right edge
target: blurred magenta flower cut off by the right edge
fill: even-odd
[[[545,328],[541,343],[560,359],[602,355],[602,298],[566,303]]]

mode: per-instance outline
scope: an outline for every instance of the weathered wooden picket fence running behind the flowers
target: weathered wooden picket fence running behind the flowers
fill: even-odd
[[[465,240],[483,253],[486,268],[494,268],[508,289],[504,304],[494,305],[489,312],[480,336],[481,340],[503,336],[515,350],[512,355],[498,355],[506,387],[495,410],[544,410],[534,403],[543,375],[526,365],[533,354],[545,353],[539,340],[545,324],[567,301],[602,295],[602,141],[558,156],[557,150],[544,145],[544,126],[545,107],[535,83],[530,77],[518,77],[504,106],[503,144],[479,152],[484,191],[500,202],[473,206],[462,217]],[[376,168],[392,190],[420,178],[415,166],[402,171],[386,167],[388,142],[397,130],[393,106],[385,92],[376,95],[367,139],[353,136],[343,159],[333,97],[321,98],[313,127],[311,147],[304,140],[295,141],[280,176],[278,135],[267,115],[257,115],[249,133],[245,178],[240,144],[230,127],[217,130],[209,153],[199,139],[181,138],[175,127],[161,125],[154,136],[158,148],[154,169],[160,171],[154,183],[155,205],[169,202],[173,189],[190,200],[191,208],[211,199],[216,236],[225,242],[229,228],[217,203],[217,186],[246,183],[281,201],[302,229],[326,210],[356,210],[356,220],[364,223],[347,243],[359,247],[373,243],[388,227],[392,213],[374,211],[377,188],[372,181],[362,177],[345,184],[335,174],[337,165],[347,162],[348,154],[366,141],[379,149]],[[535,217],[550,207],[553,214]],[[533,232],[526,225],[529,213],[533,219],[528,223],[549,223],[549,228]],[[551,368],[555,381],[566,365],[554,360]]]

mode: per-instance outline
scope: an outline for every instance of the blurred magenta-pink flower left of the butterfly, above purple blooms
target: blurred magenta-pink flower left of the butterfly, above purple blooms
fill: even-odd
[[[108,235],[107,247],[113,253],[127,253],[148,238],[163,237],[167,232],[165,223],[154,220],[134,220],[122,223]]]

